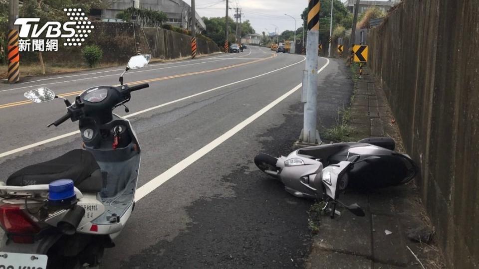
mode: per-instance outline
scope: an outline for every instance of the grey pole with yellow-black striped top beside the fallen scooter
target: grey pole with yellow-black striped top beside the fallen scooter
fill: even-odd
[[[319,0],[309,0],[308,4],[308,33],[306,47],[306,104],[304,104],[303,132],[300,139],[308,144],[321,141],[316,130],[317,122],[317,91],[318,91],[318,43],[319,43]],[[303,90],[304,92],[304,90]]]

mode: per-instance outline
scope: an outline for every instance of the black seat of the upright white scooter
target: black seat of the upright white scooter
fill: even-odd
[[[93,155],[83,149],[71,150],[49,161],[21,168],[11,174],[6,185],[49,184],[57,179],[71,179],[82,192],[99,192],[103,187],[100,166]]]

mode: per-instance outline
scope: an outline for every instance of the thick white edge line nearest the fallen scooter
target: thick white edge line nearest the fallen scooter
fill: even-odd
[[[326,59],[327,62],[321,69],[318,70],[319,72],[323,71],[326,66],[329,64],[329,59]],[[138,202],[140,199],[148,195],[150,192],[154,191],[156,188],[161,186],[163,183],[183,171],[185,168],[193,164],[195,161],[199,160],[201,157],[205,156],[208,154],[208,152],[212,151],[215,149],[217,146],[221,145],[223,142],[231,138],[233,135],[237,134],[240,132],[244,127],[248,126],[250,123],[252,123],[254,120],[257,118],[261,117],[264,113],[268,112],[270,109],[272,109],[274,106],[279,104],[281,101],[286,99],[288,96],[293,94],[295,91],[297,91],[299,88],[301,88],[302,83],[294,87],[293,89],[289,90],[287,93],[283,94],[280,96],[278,99],[274,100],[273,102],[269,103],[267,106],[264,108],[260,109],[258,112],[254,113],[250,117],[248,117],[246,120],[242,121],[240,124],[237,126],[233,127],[230,131],[226,132],[225,134],[220,135],[217,137],[215,140],[211,141],[204,147],[200,148],[197,150],[195,153],[191,154],[190,156],[184,158],[177,164],[173,165],[171,168],[160,174],[159,176],[153,178],[152,180],[148,181],[145,183],[143,186],[138,188],[135,192],[135,202]]]

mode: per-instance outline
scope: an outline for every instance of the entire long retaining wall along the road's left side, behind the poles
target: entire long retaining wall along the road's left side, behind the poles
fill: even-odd
[[[81,47],[59,45],[58,51],[44,52],[47,64],[61,63],[70,66],[84,64],[82,48],[98,45],[103,50],[103,63],[126,64],[128,59],[140,53],[151,53],[155,58],[175,59],[191,55],[191,36],[161,29],[142,28],[134,23],[93,22],[95,28]],[[156,34],[158,30],[158,35]],[[63,43],[63,40],[59,40]],[[198,53],[210,54],[220,51],[213,42],[197,38]],[[37,53],[21,52],[22,62],[38,62]]]

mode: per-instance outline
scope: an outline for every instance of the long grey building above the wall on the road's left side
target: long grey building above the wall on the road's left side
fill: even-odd
[[[167,24],[185,29],[191,28],[191,6],[183,0],[112,0],[107,8],[101,10],[101,18],[114,18],[116,14],[130,6],[163,11],[168,15]],[[206,29],[206,24],[198,12],[196,19],[197,32],[201,33]]]

